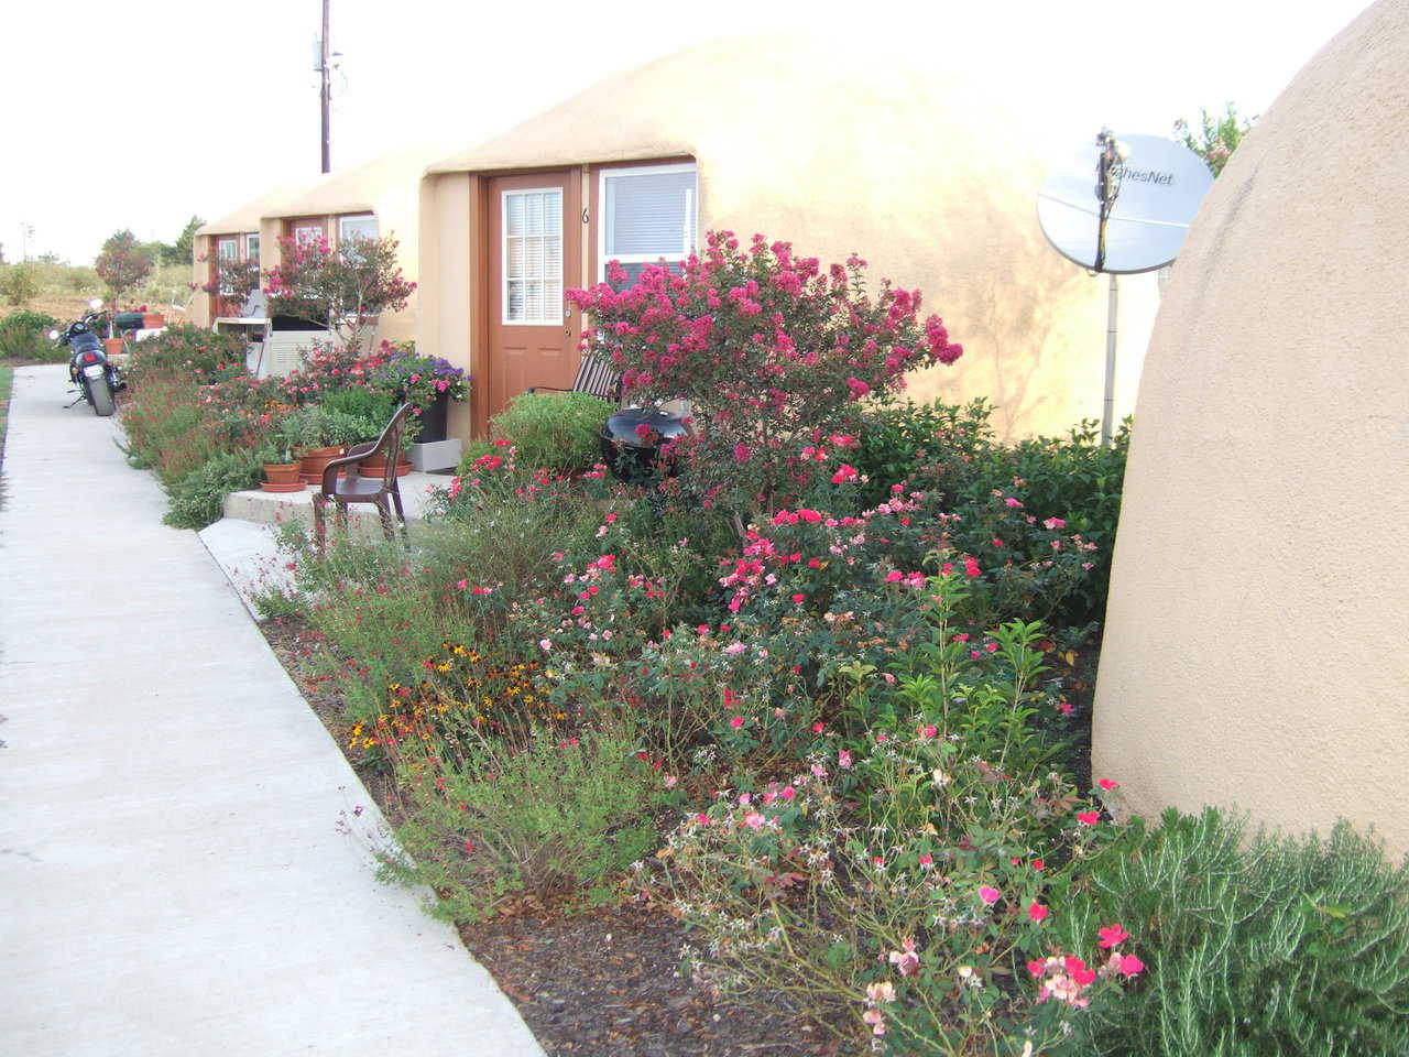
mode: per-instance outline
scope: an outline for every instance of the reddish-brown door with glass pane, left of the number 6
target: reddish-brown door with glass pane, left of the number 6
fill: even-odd
[[[489,180],[490,417],[530,386],[566,389],[578,372],[582,326],[562,292],[582,285],[581,197],[569,172]]]

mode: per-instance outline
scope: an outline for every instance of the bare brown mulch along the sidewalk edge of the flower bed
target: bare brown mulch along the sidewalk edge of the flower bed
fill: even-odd
[[[345,750],[342,702],[306,678],[311,638],[297,620],[261,624],[275,655]],[[386,779],[348,755],[383,813]],[[669,915],[630,903],[582,908],[519,899],[462,926],[469,951],[495,977],[550,1054],[572,1057],[837,1057],[850,1051],[824,1027],[792,1013],[781,995],[730,1002],[681,972],[686,930]]]

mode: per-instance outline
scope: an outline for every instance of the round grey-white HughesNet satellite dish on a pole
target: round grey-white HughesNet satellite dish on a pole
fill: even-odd
[[[1158,135],[1112,138],[1123,159],[1113,169],[1115,202],[1100,240],[1098,175],[1102,144],[1088,141],[1057,165],[1037,193],[1037,218],[1053,248],[1086,269],[1134,275],[1162,268],[1179,255],[1189,223],[1213,186],[1213,173],[1184,144]]]

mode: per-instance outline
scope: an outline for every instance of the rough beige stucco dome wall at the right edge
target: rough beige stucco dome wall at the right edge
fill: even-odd
[[[1409,851],[1405,70],[1381,0],[1244,140],[1165,293],[1096,691],[1129,810]]]

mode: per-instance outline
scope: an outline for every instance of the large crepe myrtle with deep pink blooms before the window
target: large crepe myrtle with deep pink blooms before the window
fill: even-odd
[[[883,279],[871,296],[865,268],[852,255],[823,272],[790,242],[754,235],[741,249],[712,231],[703,256],[650,265],[624,289],[613,261],[609,282],[568,300],[593,320],[583,350],[606,350],[630,400],[690,402],[690,434],[664,454],[688,469],[679,482],[738,517],[834,479],[828,457],[854,443],[862,400],[962,355],[938,316],[921,320],[919,290]]]

